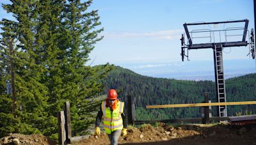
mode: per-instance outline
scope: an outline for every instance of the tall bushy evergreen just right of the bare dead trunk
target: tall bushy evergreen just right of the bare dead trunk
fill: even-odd
[[[47,100],[47,88],[40,83],[42,66],[35,61],[38,57],[34,43],[36,3],[34,1],[12,1],[12,3],[3,4],[3,8],[9,13],[13,13],[13,17],[17,21],[5,19],[1,21],[3,25],[1,50],[4,50],[4,59],[7,60],[7,64],[10,64],[11,59],[13,61],[15,74],[13,84],[15,87],[12,87],[12,90],[16,88],[16,99],[13,100],[15,103],[12,105],[8,104],[13,106],[13,124],[3,125],[1,129],[14,128],[14,130],[8,131],[23,134],[40,133],[40,123],[46,119],[44,106]],[[17,39],[16,43],[13,43],[14,38]],[[6,51],[12,48],[6,45],[6,40],[13,45],[13,51],[11,51],[13,55]],[[10,72],[6,69],[3,69],[1,74],[10,76]],[[4,79],[3,81],[10,81],[10,77]],[[1,93],[8,96],[6,92]],[[6,113],[10,111],[8,107],[3,109]],[[3,132],[3,134],[6,133],[8,132]]]

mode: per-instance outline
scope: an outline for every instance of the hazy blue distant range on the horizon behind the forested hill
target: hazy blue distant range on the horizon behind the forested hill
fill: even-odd
[[[143,76],[152,76],[155,78],[214,81],[214,62],[212,61],[148,62],[117,65],[130,69]],[[223,66],[225,79],[256,72],[256,62],[252,59],[224,60]]]

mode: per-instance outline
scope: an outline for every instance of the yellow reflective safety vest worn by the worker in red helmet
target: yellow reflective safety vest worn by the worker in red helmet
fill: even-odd
[[[104,101],[101,104],[101,109],[103,113],[103,125],[107,134],[124,128],[121,116],[124,112],[124,102],[118,101],[116,109],[111,112],[110,108],[106,107],[106,101]]]

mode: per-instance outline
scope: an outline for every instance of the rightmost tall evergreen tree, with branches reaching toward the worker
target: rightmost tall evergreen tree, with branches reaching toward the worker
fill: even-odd
[[[63,97],[70,100],[72,114],[72,128],[74,135],[83,134],[84,129],[95,121],[92,111],[99,109],[93,104],[92,98],[102,92],[99,79],[106,77],[111,66],[86,66],[88,54],[93,50],[94,44],[102,37],[98,36],[103,29],[96,29],[100,25],[97,11],[88,11],[92,1],[68,1],[65,3],[63,13],[63,29],[60,48],[66,54],[67,62],[63,64],[63,79],[65,92]]]

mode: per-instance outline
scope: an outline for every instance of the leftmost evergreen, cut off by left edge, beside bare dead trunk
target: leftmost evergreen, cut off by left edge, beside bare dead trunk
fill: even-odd
[[[0,43],[0,136],[3,136],[8,132],[14,132],[17,128],[17,117],[15,118],[17,107],[13,105],[15,100],[11,95],[10,60],[13,56],[10,55],[9,49],[15,39],[15,34],[11,31],[15,23],[3,19],[1,25],[4,27],[1,28],[3,32]]]

